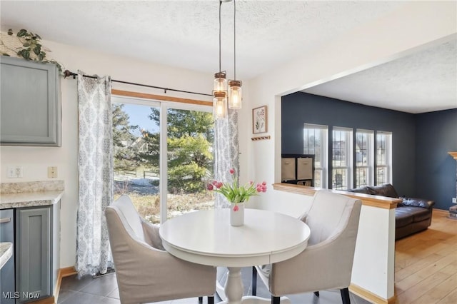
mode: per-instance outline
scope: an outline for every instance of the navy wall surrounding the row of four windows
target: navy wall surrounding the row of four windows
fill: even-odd
[[[411,113],[387,110],[334,98],[297,92],[282,97],[281,153],[303,153],[303,123],[392,132],[393,186],[398,195],[416,191],[416,118]],[[330,160],[329,160],[329,163]]]

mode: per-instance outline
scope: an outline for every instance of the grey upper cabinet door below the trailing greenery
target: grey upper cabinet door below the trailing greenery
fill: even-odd
[[[61,146],[60,76],[55,64],[1,56],[0,143]]]

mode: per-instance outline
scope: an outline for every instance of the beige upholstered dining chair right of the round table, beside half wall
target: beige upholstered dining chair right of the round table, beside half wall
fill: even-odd
[[[339,289],[343,304],[350,303],[351,273],[361,201],[327,190],[316,191],[308,213],[301,217],[311,230],[308,247],[295,257],[253,268],[271,293],[271,303],[281,295]]]

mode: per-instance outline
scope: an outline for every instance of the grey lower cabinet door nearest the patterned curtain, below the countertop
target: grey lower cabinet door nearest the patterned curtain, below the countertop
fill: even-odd
[[[51,293],[51,206],[16,209],[16,303]]]

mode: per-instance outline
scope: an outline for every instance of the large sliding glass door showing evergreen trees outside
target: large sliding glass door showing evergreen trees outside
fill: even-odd
[[[213,208],[214,193],[204,191],[213,176],[212,108],[112,100],[115,198],[128,194],[140,215],[154,224]]]

